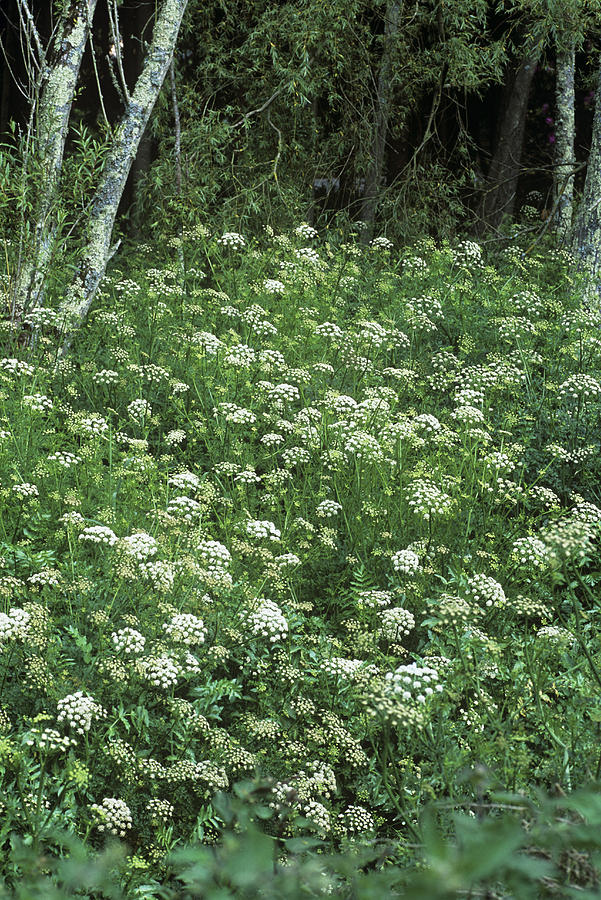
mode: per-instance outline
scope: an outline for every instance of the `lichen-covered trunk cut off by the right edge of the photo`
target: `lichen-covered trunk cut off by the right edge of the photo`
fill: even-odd
[[[584,190],[576,221],[572,252],[586,273],[585,294],[599,303],[601,297],[601,62],[597,75],[595,114]]]

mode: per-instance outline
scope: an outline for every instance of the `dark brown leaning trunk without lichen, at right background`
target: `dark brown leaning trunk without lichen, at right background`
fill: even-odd
[[[540,46],[529,49],[515,73],[480,204],[481,232],[498,228],[504,216],[513,215],[528,97],[540,53]]]

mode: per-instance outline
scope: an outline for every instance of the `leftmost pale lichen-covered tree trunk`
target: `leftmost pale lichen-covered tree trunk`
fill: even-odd
[[[73,0],[64,9],[54,40],[39,60],[41,73],[34,109],[33,159],[39,173],[31,242],[24,247],[13,288],[13,310],[39,304],[56,237],[56,199],[69,116],[81,60],[97,0]]]

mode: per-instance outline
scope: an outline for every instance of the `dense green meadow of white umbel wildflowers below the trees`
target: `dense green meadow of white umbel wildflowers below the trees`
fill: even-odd
[[[0,323],[0,896],[598,896],[568,254],[197,226],[50,305]]]

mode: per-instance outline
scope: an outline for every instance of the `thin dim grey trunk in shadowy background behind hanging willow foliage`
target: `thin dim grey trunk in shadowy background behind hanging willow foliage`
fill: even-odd
[[[370,165],[365,177],[365,195],[359,217],[369,226],[368,233],[371,231],[376,218],[382,173],[384,171],[386,136],[388,134],[388,123],[392,107],[392,51],[398,38],[400,20],[401,5],[397,0],[391,0],[386,7],[384,44],[382,47],[380,71],[378,73]]]

